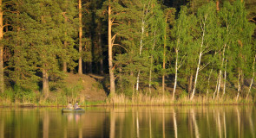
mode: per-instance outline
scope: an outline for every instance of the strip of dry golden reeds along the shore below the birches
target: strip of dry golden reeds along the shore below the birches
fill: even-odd
[[[116,94],[108,97],[107,105],[210,105],[210,104],[250,104],[253,99],[240,99],[236,101],[235,98],[225,97],[213,99],[212,97],[194,97],[190,100],[189,97],[184,96],[172,100],[171,96],[148,96],[143,94],[126,97],[124,94]]]

